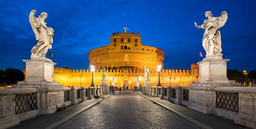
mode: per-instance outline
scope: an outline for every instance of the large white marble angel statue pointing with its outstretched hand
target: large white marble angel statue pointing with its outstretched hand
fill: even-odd
[[[208,19],[205,19],[202,25],[197,25],[197,22],[195,22],[195,26],[205,30],[203,47],[206,51],[206,59],[222,59],[219,29],[225,25],[228,14],[226,11],[223,11],[219,17],[213,17],[211,11],[207,11],[204,14]]]

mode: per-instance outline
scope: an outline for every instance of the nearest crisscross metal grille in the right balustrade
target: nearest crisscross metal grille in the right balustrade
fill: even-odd
[[[216,93],[216,107],[239,112],[239,95],[232,92],[215,92]]]

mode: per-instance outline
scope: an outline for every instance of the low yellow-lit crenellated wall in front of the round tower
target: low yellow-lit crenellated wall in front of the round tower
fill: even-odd
[[[110,77],[115,77],[115,85],[123,86],[127,84],[128,86],[136,86],[136,75],[141,77],[141,86],[144,85],[144,69],[136,68],[117,68],[117,69],[108,69],[107,70],[107,85],[110,85]],[[25,70],[24,70],[25,71]],[[171,72],[169,72],[171,71]],[[25,73],[25,72],[24,72]],[[170,76],[171,73],[171,76]],[[81,83],[80,83],[80,75]],[[171,80],[169,79],[171,78]],[[158,83],[158,71],[150,70],[149,73],[150,84],[156,86]],[[199,79],[198,75],[198,65],[191,64],[191,70],[178,70],[178,69],[163,69],[160,72],[160,83],[162,86],[168,87],[181,87],[189,86],[193,81]],[[71,70],[66,68],[54,67],[54,80],[59,82],[64,87],[90,87],[92,81],[92,72],[91,70]],[[95,70],[93,73],[94,85],[101,85],[102,80],[102,70]],[[171,84],[170,84],[171,82]]]

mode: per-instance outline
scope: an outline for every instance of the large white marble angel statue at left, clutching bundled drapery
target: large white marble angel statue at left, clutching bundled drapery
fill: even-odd
[[[46,12],[42,12],[37,18],[35,17],[36,10],[29,13],[29,23],[35,33],[37,45],[31,49],[31,58],[45,58],[48,49],[52,49],[53,29],[46,26],[44,20],[48,17]]]

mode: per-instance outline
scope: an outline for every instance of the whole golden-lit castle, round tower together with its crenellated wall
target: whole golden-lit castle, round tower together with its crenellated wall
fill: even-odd
[[[101,85],[102,68],[107,71],[107,85],[111,84],[110,77],[114,76],[115,86],[136,86],[136,76],[141,77],[141,86],[144,85],[144,68],[150,70],[149,79],[151,86],[158,83],[157,66],[163,66],[163,50],[141,44],[139,32],[113,32],[110,36],[110,44],[92,49],[88,53],[90,66],[95,66],[93,72],[94,84]],[[160,83],[167,86],[189,86],[199,79],[199,66],[191,64],[190,70],[162,69],[160,71]],[[24,74],[26,70],[24,69]],[[71,70],[70,68],[54,67],[54,80],[64,87],[90,87],[92,82],[91,70]]]

